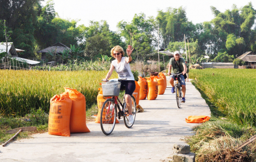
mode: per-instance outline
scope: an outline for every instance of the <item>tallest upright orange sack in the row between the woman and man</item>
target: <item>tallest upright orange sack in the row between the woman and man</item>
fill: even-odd
[[[148,82],[148,100],[155,100],[158,95],[158,86],[157,86],[157,81],[154,81],[155,77],[150,76],[147,77],[147,82]]]

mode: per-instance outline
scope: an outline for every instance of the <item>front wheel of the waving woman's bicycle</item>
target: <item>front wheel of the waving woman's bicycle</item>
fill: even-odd
[[[114,104],[113,99],[107,99],[101,108],[100,113],[100,127],[101,131],[109,135],[112,133],[115,127],[115,121],[117,120],[117,106]]]

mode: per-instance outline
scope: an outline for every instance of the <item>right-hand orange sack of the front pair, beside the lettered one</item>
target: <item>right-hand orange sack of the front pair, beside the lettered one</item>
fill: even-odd
[[[90,130],[86,126],[86,98],[76,89],[66,88],[72,100],[70,113],[70,133],[87,133]]]

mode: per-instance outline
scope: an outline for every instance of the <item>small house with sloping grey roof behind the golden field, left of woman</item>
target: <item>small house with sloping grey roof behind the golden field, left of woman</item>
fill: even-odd
[[[43,60],[46,59],[46,53],[58,53],[61,55],[65,50],[70,50],[70,48],[58,42],[53,44],[51,47],[39,50],[36,53],[42,53],[41,59]]]

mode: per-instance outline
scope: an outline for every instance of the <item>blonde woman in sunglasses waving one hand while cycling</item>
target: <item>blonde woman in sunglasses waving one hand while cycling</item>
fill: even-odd
[[[126,53],[128,57],[124,57],[124,49],[120,46],[115,46],[111,49],[111,56],[115,58],[114,61],[111,62],[111,67],[107,73],[107,76],[105,80],[108,80],[109,77],[111,77],[113,70],[118,74],[118,78],[126,78],[126,80],[121,81],[121,88],[125,85],[125,101],[127,104],[127,108],[129,111],[129,123],[133,123],[133,116],[132,116],[132,100],[131,95],[134,92],[136,85],[135,85],[135,79],[131,72],[130,64],[129,62],[132,61],[131,53],[133,51],[132,46],[128,46],[126,49]]]

